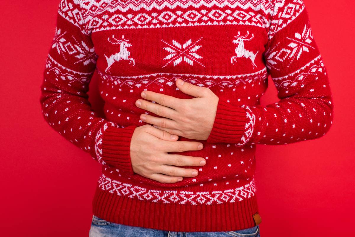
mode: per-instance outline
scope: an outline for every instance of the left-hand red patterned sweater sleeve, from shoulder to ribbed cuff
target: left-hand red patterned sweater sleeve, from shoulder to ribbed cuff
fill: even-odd
[[[62,0],[56,15],[41,86],[44,119],[100,164],[133,173],[130,141],[136,126],[120,127],[99,117],[88,101],[98,56],[91,35],[83,27],[80,2]]]

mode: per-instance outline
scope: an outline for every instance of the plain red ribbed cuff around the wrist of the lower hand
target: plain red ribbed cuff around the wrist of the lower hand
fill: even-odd
[[[102,159],[119,170],[134,174],[130,156],[130,144],[137,126],[108,127],[102,137]]]

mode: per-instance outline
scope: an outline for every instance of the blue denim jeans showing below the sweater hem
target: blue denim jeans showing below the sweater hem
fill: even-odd
[[[89,237],[260,237],[259,225],[236,231],[175,232],[127,226],[93,215]]]

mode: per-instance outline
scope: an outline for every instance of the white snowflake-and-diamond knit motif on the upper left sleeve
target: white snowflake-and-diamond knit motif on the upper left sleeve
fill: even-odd
[[[84,65],[88,65],[90,62],[96,63],[96,54],[94,48],[89,48],[83,41],[79,43],[74,36],[72,36],[75,43],[71,43],[64,38],[66,32],[61,33],[61,29],[56,29],[56,33],[53,39],[52,48],[56,48],[59,55],[67,60],[66,54],[73,55],[77,60],[74,64],[82,62]]]

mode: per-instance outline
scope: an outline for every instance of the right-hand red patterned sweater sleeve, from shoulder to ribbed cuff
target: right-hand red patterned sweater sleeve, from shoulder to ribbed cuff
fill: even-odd
[[[302,1],[274,3],[263,57],[278,91],[266,106],[219,100],[207,142],[287,144],[324,136],[333,121],[328,73]]]

